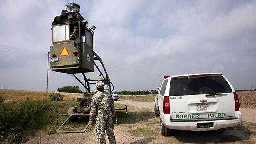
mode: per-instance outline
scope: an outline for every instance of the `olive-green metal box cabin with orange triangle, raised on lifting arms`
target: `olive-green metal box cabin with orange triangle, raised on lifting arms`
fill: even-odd
[[[62,10],[52,22],[50,70],[68,74],[94,72],[94,32],[78,12]],[[71,40],[73,27],[78,27],[79,38]]]

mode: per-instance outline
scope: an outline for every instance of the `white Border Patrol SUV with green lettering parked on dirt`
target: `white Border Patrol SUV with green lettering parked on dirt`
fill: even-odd
[[[171,129],[224,132],[241,122],[239,100],[230,82],[215,73],[165,76],[156,94],[161,133]]]

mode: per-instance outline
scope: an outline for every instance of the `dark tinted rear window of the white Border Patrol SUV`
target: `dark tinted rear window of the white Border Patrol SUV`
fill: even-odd
[[[174,78],[170,83],[170,96],[216,94],[232,92],[223,76],[203,78]]]

